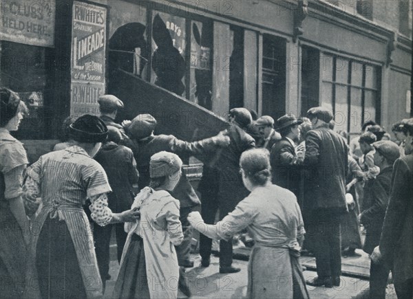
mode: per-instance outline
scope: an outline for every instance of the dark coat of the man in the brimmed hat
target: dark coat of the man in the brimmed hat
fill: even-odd
[[[299,195],[301,167],[298,165],[295,148],[286,137],[274,143],[270,155],[273,184]]]

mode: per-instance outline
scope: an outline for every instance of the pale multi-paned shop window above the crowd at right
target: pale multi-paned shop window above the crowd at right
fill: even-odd
[[[328,54],[321,61],[320,104],[335,113],[335,130],[359,133],[363,122],[379,121],[379,68]]]

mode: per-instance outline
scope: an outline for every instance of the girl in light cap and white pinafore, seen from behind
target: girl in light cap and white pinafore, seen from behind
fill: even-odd
[[[171,192],[180,180],[182,161],[161,151],[151,157],[151,183],[136,196],[140,220],[129,232],[120,261],[113,298],[177,298],[179,266],[174,245],[184,239],[179,201]]]

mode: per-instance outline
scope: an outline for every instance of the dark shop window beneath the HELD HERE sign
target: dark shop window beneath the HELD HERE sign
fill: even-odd
[[[19,131],[22,140],[50,139],[54,98],[54,48],[1,41],[1,85],[19,93],[29,109]]]

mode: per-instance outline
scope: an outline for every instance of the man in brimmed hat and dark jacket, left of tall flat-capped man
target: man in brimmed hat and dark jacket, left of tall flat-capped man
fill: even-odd
[[[297,119],[293,114],[284,115],[277,120],[277,131],[282,139],[274,143],[270,156],[273,184],[290,190],[297,198],[301,177],[299,164],[303,159],[297,157],[295,153],[294,140],[299,138],[301,123],[302,120]]]

